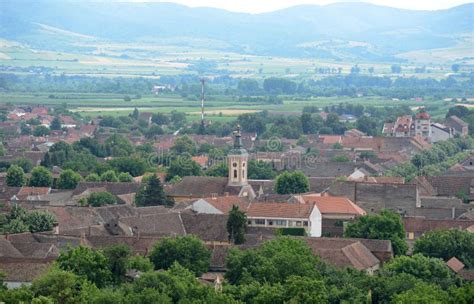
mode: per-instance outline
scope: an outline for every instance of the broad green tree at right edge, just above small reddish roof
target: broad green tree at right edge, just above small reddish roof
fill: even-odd
[[[465,230],[436,230],[415,241],[414,253],[445,261],[458,258],[467,268],[474,268],[474,235]]]

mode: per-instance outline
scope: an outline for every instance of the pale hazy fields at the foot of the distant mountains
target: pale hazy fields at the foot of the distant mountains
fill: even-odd
[[[216,70],[224,71],[232,77],[262,79],[270,76],[284,76],[293,79],[318,79],[328,74],[318,74],[317,68],[341,68],[343,74],[348,74],[351,67],[356,64],[361,68],[361,73],[368,73],[368,69],[373,67],[373,75],[392,76],[391,63],[344,62],[310,57],[254,56],[209,50],[205,46],[198,44],[191,48],[173,45],[79,42],[76,51],[52,52],[32,49],[13,41],[0,40],[0,65],[21,68],[48,67],[53,69],[53,74],[56,75],[159,78],[160,75],[196,73],[190,69],[190,66],[200,59],[205,59],[215,62]],[[447,52],[447,50],[440,51]],[[458,50],[458,52],[461,51]],[[413,53],[407,54],[406,58],[411,62],[416,62],[417,57],[425,55]],[[426,66],[427,73],[416,74],[417,77],[442,78],[446,76],[450,68],[447,61],[423,62],[423,64],[406,62],[402,63],[402,76],[413,76],[415,68],[422,65]]]

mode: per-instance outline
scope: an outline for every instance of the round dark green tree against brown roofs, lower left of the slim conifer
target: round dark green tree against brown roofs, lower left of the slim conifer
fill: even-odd
[[[211,253],[206,245],[193,235],[166,237],[157,242],[150,253],[155,269],[169,269],[175,262],[199,276],[207,272]]]

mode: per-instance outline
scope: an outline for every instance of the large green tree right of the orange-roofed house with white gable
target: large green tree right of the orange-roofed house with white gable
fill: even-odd
[[[408,250],[405,242],[405,228],[397,213],[384,209],[377,215],[364,215],[349,223],[345,237],[390,240],[395,255],[403,255]]]

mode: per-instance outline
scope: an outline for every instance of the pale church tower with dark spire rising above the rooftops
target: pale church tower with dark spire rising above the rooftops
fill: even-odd
[[[242,146],[240,126],[234,132],[234,148],[229,151],[227,161],[229,166],[228,186],[247,186],[247,163],[249,154]]]

